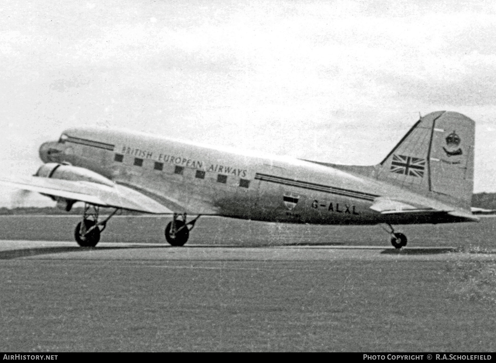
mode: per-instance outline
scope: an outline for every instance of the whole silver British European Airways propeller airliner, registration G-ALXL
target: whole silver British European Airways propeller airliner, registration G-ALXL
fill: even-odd
[[[122,130],[70,128],[45,142],[31,178],[4,184],[40,192],[69,211],[85,203],[74,236],[95,246],[119,210],[170,214],[167,242],[186,243],[202,215],[333,225],[477,221],[470,202],[474,121],[455,112],[422,117],[374,166],[349,166],[207,147]],[[100,207],[115,211],[99,219]],[[188,215],[196,218],[187,220]]]

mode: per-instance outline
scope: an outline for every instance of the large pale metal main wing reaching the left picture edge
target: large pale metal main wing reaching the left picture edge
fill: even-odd
[[[104,185],[96,182],[68,181],[30,177],[18,180],[0,179],[0,183],[15,188],[36,191],[70,200],[86,202],[102,207],[122,208],[153,214],[172,214],[173,212],[131,188],[114,184]]]

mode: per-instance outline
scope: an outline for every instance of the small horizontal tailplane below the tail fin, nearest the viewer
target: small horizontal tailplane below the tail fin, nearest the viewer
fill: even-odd
[[[472,212],[456,208],[435,207],[413,201],[404,201],[396,198],[377,198],[370,207],[380,214],[445,214],[452,217],[467,219],[478,222],[479,218],[474,217]]]

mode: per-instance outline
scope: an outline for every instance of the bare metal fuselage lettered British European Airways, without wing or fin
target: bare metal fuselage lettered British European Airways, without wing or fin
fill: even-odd
[[[378,197],[427,198],[308,161],[125,131],[74,128],[64,135],[42,146],[44,162],[92,170],[176,213],[314,224],[456,222],[432,213],[382,215],[370,209]]]

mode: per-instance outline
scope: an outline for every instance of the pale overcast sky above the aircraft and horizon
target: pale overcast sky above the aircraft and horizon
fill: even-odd
[[[493,1],[3,0],[0,173],[34,174],[39,145],[79,125],[372,165],[419,113],[449,110],[476,121],[475,192],[495,192],[495,13]]]

